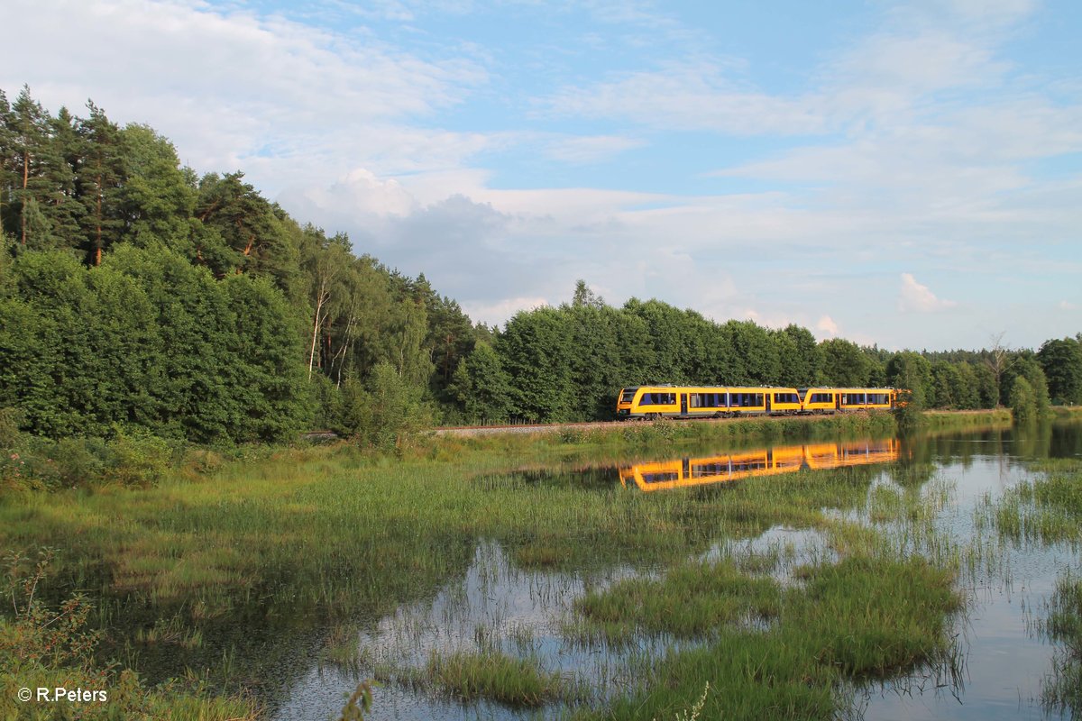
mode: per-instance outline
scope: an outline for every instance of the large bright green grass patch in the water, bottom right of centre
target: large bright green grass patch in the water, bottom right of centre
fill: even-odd
[[[671,718],[708,683],[704,718],[836,718],[849,703],[845,680],[958,663],[948,630],[963,604],[951,571],[854,556],[796,575],[803,583],[782,588],[730,562],[688,564],[588,595],[578,606],[610,640],[643,631],[708,640],[659,659],[638,693],[575,718]],[[756,618],[770,623],[748,623]]]

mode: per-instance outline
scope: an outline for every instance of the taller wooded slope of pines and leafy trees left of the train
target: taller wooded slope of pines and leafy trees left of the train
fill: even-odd
[[[24,430],[375,441],[453,405],[488,335],[456,302],[88,109],[0,92],[0,409]]]

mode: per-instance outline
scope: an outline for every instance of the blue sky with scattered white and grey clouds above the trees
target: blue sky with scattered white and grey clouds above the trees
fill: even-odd
[[[4,0],[0,89],[424,273],[888,349],[1082,331],[1077,0]]]

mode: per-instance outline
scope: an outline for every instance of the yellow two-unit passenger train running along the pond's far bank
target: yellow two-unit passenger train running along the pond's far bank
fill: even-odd
[[[733,418],[890,410],[895,388],[776,388],[771,386],[634,386],[617,397],[616,415],[631,418]]]

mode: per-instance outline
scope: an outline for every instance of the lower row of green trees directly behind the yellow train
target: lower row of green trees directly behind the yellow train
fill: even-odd
[[[613,308],[580,281],[570,304],[519,312],[492,347],[479,344],[451,389],[475,420],[590,420],[613,415],[619,388],[644,383],[894,386],[923,408],[961,410],[1010,405],[1017,378],[1045,404],[1082,403],[1082,334],[1035,353],[890,352],[659,301]]]

